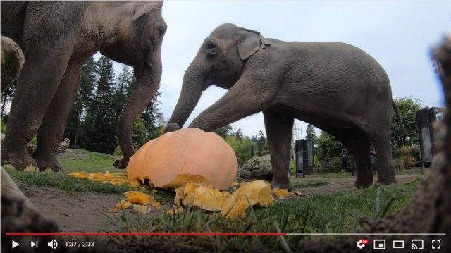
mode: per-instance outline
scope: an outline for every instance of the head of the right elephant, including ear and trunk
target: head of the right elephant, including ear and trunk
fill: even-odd
[[[211,85],[230,89],[240,76],[245,61],[269,47],[257,31],[224,24],[217,27],[197,52],[183,77],[182,92],[166,126],[166,132],[182,127],[197,105],[201,94]],[[178,125],[178,126],[177,126]]]

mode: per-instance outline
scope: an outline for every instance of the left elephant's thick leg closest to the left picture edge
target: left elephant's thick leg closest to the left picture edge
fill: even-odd
[[[27,144],[35,137],[47,107],[63,78],[70,54],[50,49],[30,49],[14,92],[6,137],[1,147],[1,165],[18,171],[38,171]]]

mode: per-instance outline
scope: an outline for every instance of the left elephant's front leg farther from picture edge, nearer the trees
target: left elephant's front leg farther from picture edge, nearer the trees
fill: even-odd
[[[70,109],[72,109],[80,87],[81,68],[82,63],[68,65],[63,80],[42,119],[42,124],[37,132],[36,151],[33,153],[33,158],[40,171],[48,169],[54,172],[62,171],[56,155],[63,139]]]

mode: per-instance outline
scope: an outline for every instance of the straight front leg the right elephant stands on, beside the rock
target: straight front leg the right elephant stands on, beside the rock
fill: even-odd
[[[288,177],[288,167],[290,166],[290,143],[294,118],[282,116],[271,110],[263,111],[263,116],[274,176],[271,187],[291,191],[293,187]]]

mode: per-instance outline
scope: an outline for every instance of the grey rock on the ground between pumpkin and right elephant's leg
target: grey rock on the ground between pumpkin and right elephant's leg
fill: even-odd
[[[271,157],[252,157],[239,171],[240,178],[249,180],[272,180]]]

